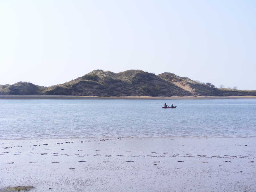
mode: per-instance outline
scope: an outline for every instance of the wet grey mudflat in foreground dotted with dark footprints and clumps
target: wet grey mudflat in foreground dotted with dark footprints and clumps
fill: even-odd
[[[0,191],[255,191],[255,158],[246,138],[0,140]]]

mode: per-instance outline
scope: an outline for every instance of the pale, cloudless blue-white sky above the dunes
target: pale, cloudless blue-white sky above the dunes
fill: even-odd
[[[256,90],[256,1],[0,1],[0,84],[140,69]]]

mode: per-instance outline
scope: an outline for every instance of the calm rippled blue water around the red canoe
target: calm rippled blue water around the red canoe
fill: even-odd
[[[256,100],[0,100],[0,139],[251,138],[255,113]]]

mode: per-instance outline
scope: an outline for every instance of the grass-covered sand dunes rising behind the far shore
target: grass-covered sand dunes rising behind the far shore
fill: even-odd
[[[93,70],[64,84],[43,87],[28,82],[0,85],[0,94],[84,95],[84,96],[244,96],[256,91],[216,88],[173,73],[155,75],[142,70],[120,73]]]

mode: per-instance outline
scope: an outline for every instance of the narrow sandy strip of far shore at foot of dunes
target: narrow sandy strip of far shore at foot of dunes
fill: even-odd
[[[256,96],[125,96],[125,97],[98,97],[98,96],[72,96],[72,95],[0,95],[0,99],[256,99]]]

